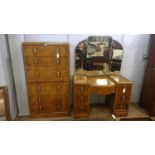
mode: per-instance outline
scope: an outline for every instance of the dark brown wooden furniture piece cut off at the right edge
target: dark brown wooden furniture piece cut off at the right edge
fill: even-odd
[[[145,71],[140,105],[145,107],[150,115],[155,115],[155,35],[152,35],[150,44],[150,54]]]

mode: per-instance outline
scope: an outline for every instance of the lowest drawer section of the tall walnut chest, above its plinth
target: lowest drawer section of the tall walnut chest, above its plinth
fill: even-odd
[[[31,113],[66,112],[69,109],[69,98],[51,95],[29,95]]]

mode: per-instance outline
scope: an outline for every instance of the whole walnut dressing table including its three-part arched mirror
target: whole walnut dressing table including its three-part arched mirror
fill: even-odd
[[[89,36],[75,48],[74,117],[90,113],[90,96],[106,95],[111,114],[126,116],[132,82],[120,74],[123,47],[110,36]]]

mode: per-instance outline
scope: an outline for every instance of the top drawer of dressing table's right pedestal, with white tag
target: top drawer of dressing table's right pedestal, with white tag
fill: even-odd
[[[131,84],[121,84],[117,86],[117,94],[118,95],[130,95],[131,93],[131,88],[132,85]]]

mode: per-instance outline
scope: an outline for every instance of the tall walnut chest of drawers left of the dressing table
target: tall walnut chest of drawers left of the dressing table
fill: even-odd
[[[23,59],[30,114],[69,114],[70,67],[67,43],[24,42]]]

